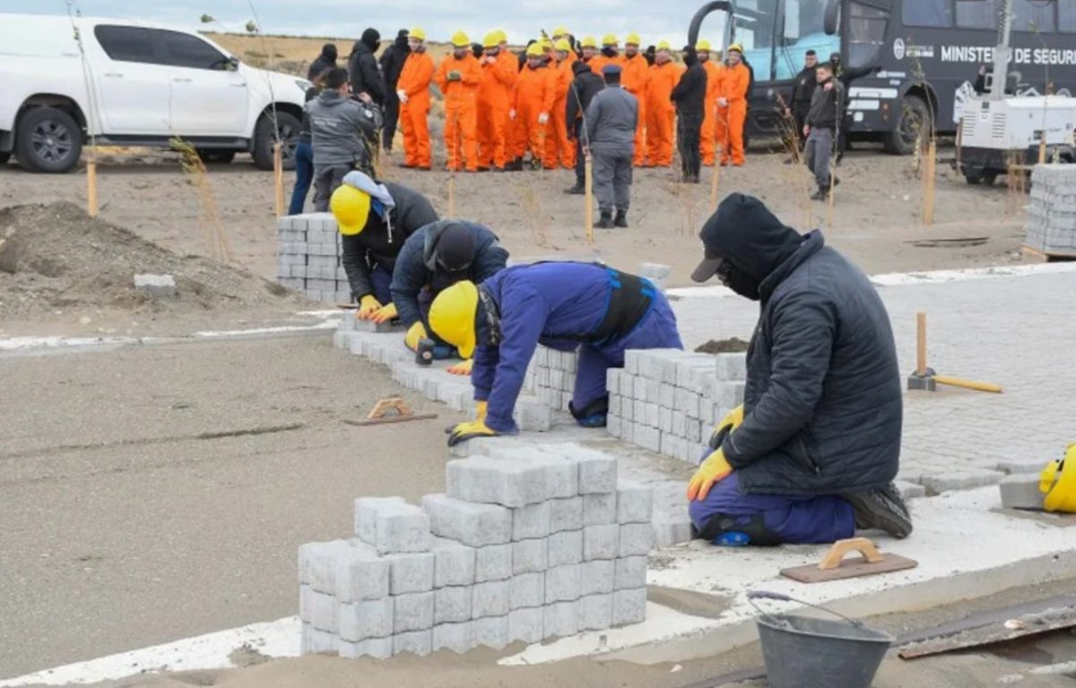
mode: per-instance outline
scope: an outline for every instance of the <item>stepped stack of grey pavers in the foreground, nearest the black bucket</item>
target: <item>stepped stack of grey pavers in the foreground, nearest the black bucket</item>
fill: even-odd
[[[539,643],[647,613],[651,488],[578,444],[449,461],[445,493],[355,501],[354,538],[299,547],[303,654]]]

